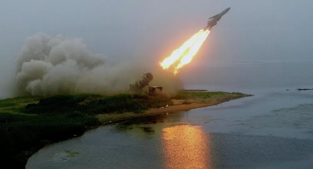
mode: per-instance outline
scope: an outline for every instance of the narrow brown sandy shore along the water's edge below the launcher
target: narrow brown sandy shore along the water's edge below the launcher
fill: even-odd
[[[209,99],[192,99],[188,100],[188,102],[192,102],[191,104],[182,104],[186,100],[172,100],[173,105],[169,107],[165,107],[162,109],[154,108],[146,110],[144,113],[133,113],[133,112],[126,112],[126,113],[114,113],[114,114],[99,114],[96,115],[96,117],[99,119],[100,123],[102,125],[133,118],[133,117],[143,117],[143,116],[153,116],[153,115],[159,115],[159,114],[165,114],[165,113],[171,113],[171,112],[177,112],[177,111],[184,111],[184,110],[191,110],[195,108],[200,107],[208,107],[208,106],[214,106],[223,102],[228,102],[233,99],[238,99],[242,97],[249,97],[253,95],[249,94],[242,94],[242,95],[227,95],[224,97],[215,97],[215,98],[209,98]]]

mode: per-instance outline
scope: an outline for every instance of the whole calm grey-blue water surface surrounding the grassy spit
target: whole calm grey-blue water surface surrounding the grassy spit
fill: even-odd
[[[190,71],[185,88],[254,96],[99,127],[39,150],[26,168],[312,168],[313,91],[294,90],[313,88],[312,63],[236,62],[198,81]]]

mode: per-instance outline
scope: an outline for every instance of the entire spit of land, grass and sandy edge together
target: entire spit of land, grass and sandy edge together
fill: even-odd
[[[80,136],[108,122],[206,107],[246,96],[250,95],[179,92],[173,98],[82,94],[0,100],[0,144],[4,145],[1,159],[7,162],[2,166],[24,168],[28,158],[45,145]]]

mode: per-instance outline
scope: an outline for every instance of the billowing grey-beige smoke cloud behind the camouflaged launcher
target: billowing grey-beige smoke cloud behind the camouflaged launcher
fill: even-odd
[[[19,52],[15,93],[51,96],[125,92],[129,89],[129,83],[139,79],[143,72],[151,71],[151,67],[146,69],[140,62],[107,66],[105,61],[103,54],[88,50],[82,38],[51,37],[38,33],[27,37]],[[171,84],[171,78],[160,78],[162,82],[158,85]],[[169,85],[168,89],[175,90],[177,85],[181,85],[173,82],[175,84]]]

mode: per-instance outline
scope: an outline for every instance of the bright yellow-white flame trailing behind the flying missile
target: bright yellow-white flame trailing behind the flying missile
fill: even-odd
[[[192,61],[192,58],[196,55],[209,33],[209,30],[204,31],[201,29],[198,33],[194,34],[190,39],[182,44],[181,47],[173,51],[169,57],[163,60],[163,62],[160,62],[160,65],[163,69],[168,69],[170,66],[174,66],[174,74],[176,75],[179,68]],[[180,62],[178,63],[178,61]]]

